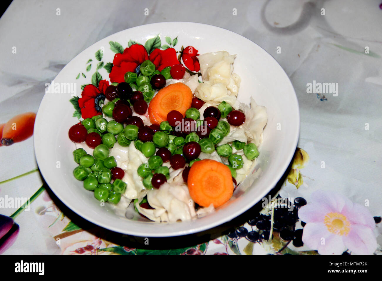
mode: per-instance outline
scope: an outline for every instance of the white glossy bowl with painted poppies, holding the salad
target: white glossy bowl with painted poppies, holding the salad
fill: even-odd
[[[88,84],[95,72],[94,54],[104,49],[102,60],[112,62],[114,53],[109,41],[127,47],[130,39],[144,44],[147,39],[160,34],[162,44],[165,36],[178,45],[191,45],[199,54],[225,50],[237,54],[234,72],[241,77],[238,99],[249,102],[253,96],[257,104],[267,108],[268,123],[264,139],[259,147],[260,155],[253,174],[249,175],[235,190],[233,198],[214,213],[193,221],[154,223],[139,216],[128,219],[116,214],[106,203],[104,207],[92,192],[83,188],[82,182],[73,177],[76,163],[72,151],[76,148],[68,138],[68,129],[78,122],[73,115],[70,93],[45,93],[37,112],[34,126],[34,146],[37,163],[45,181],[58,198],[83,218],[112,231],[143,237],[179,236],[203,231],[230,221],[262,199],[282,177],[290,163],[299,136],[299,107],[293,86],[276,60],[254,42],[223,28],[201,23],[166,22],[153,23],[126,29],[110,35],[78,54],[58,73],[54,83],[77,83],[77,95],[81,96],[81,84]],[[86,72],[85,63],[93,59],[92,71]],[[87,78],[76,76],[79,72]],[[105,69],[99,70],[108,81]]]

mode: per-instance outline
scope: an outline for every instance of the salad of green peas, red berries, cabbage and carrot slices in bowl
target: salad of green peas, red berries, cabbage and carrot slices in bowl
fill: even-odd
[[[74,177],[98,200],[157,222],[188,221],[224,205],[254,168],[267,113],[237,100],[236,55],[181,63],[145,60],[105,89],[102,114],[69,129]]]

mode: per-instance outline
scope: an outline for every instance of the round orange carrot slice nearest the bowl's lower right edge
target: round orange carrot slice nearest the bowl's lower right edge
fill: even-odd
[[[188,173],[187,185],[191,198],[203,207],[212,203],[217,208],[230,200],[233,194],[230,169],[211,159],[194,162]]]

